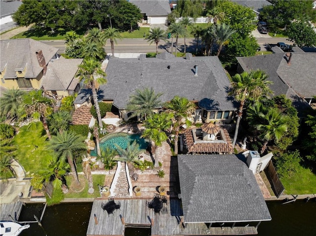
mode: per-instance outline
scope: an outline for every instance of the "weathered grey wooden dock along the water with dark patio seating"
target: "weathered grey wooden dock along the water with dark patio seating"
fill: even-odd
[[[107,211],[101,208],[102,202],[108,200],[95,200],[92,205],[87,236],[123,236],[125,227],[151,227],[152,236],[195,236],[195,235],[256,235],[255,227],[211,227],[207,229],[204,223],[190,223],[185,227],[181,224],[183,213],[181,201],[178,199],[168,199],[168,204],[164,204],[160,214],[154,213],[153,209],[147,207],[144,200],[115,200],[120,202],[120,210],[108,215]],[[98,224],[95,223],[94,214]],[[125,225],[122,224],[121,217],[124,218]],[[151,219],[154,225],[151,225]]]

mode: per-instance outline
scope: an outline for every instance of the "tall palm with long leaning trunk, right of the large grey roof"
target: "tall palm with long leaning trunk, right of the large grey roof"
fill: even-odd
[[[237,111],[237,123],[233,140],[233,147],[236,144],[239,123],[242,116],[242,109],[246,101],[259,101],[262,97],[269,97],[272,90],[268,87],[272,82],[267,80],[268,75],[262,70],[255,70],[250,73],[247,71],[241,74],[236,74],[232,77],[232,88],[229,95],[234,96],[234,99],[240,102]]]

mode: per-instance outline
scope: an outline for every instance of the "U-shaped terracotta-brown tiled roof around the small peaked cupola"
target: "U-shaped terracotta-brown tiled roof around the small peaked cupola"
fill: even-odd
[[[188,153],[232,153],[234,151],[231,138],[226,129],[223,128],[226,142],[203,142],[195,143],[192,130],[185,130],[185,143]]]

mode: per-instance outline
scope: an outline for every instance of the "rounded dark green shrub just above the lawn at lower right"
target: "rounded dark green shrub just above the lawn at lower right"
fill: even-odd
[[[280,177],[290,175],[296,172],[300,167],[300,152],[298,150],[294,152],[283,153],[276,159],[276,169]]]

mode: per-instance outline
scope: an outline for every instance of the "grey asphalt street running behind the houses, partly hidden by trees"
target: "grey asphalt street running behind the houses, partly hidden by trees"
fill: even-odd
[[[165,50],[171,50],[171,39],[166,39],[167,41],[160,41],[158,44],[158,52],[163,52]],[[173,40],[174,42],[175,40]],[[273,43],[276,44],[277,42],[285,42],[286,44],[292,44],[292,42],[287,41],[286,38],[257,38],[258,44],[261,46],[261,50],[266,50],[264,47],[265,43]],[[58,53],[64,53],[65,51],[65,41],[64,40],[41,40],[41,42],[59,48]],[[196,43],[194,38],[187,38],[187,50],[195,51]],[[184,40],[183,38],[179,38],[178,40],[179,48],[182,51]],[[105,46],[106,52],[111,53],[111,44],[108,40]],[[118,44],[114,45],[114,50],[117,53],[128,53],[128,52],[139,52],[139,53],[147,53],[147,52],[155,52],[156,51],[156,44],[152,43],[151,45],[147,40],[143,38],[124,38],[122,40],[118,40]]]

